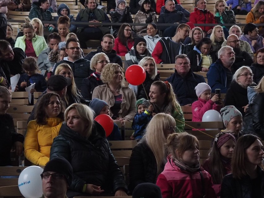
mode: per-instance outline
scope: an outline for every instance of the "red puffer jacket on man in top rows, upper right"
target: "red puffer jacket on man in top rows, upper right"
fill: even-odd
[[[216,20],[214,15],[209,11],[206,10],[206,13],[199,10],[198,8],[194,8],[194,11],[190,14],[190,22],[193,24],[216,24]],[[205,33],[209,31],[209,29],[213,29],[213,26],[198,26],[200,27]]]

